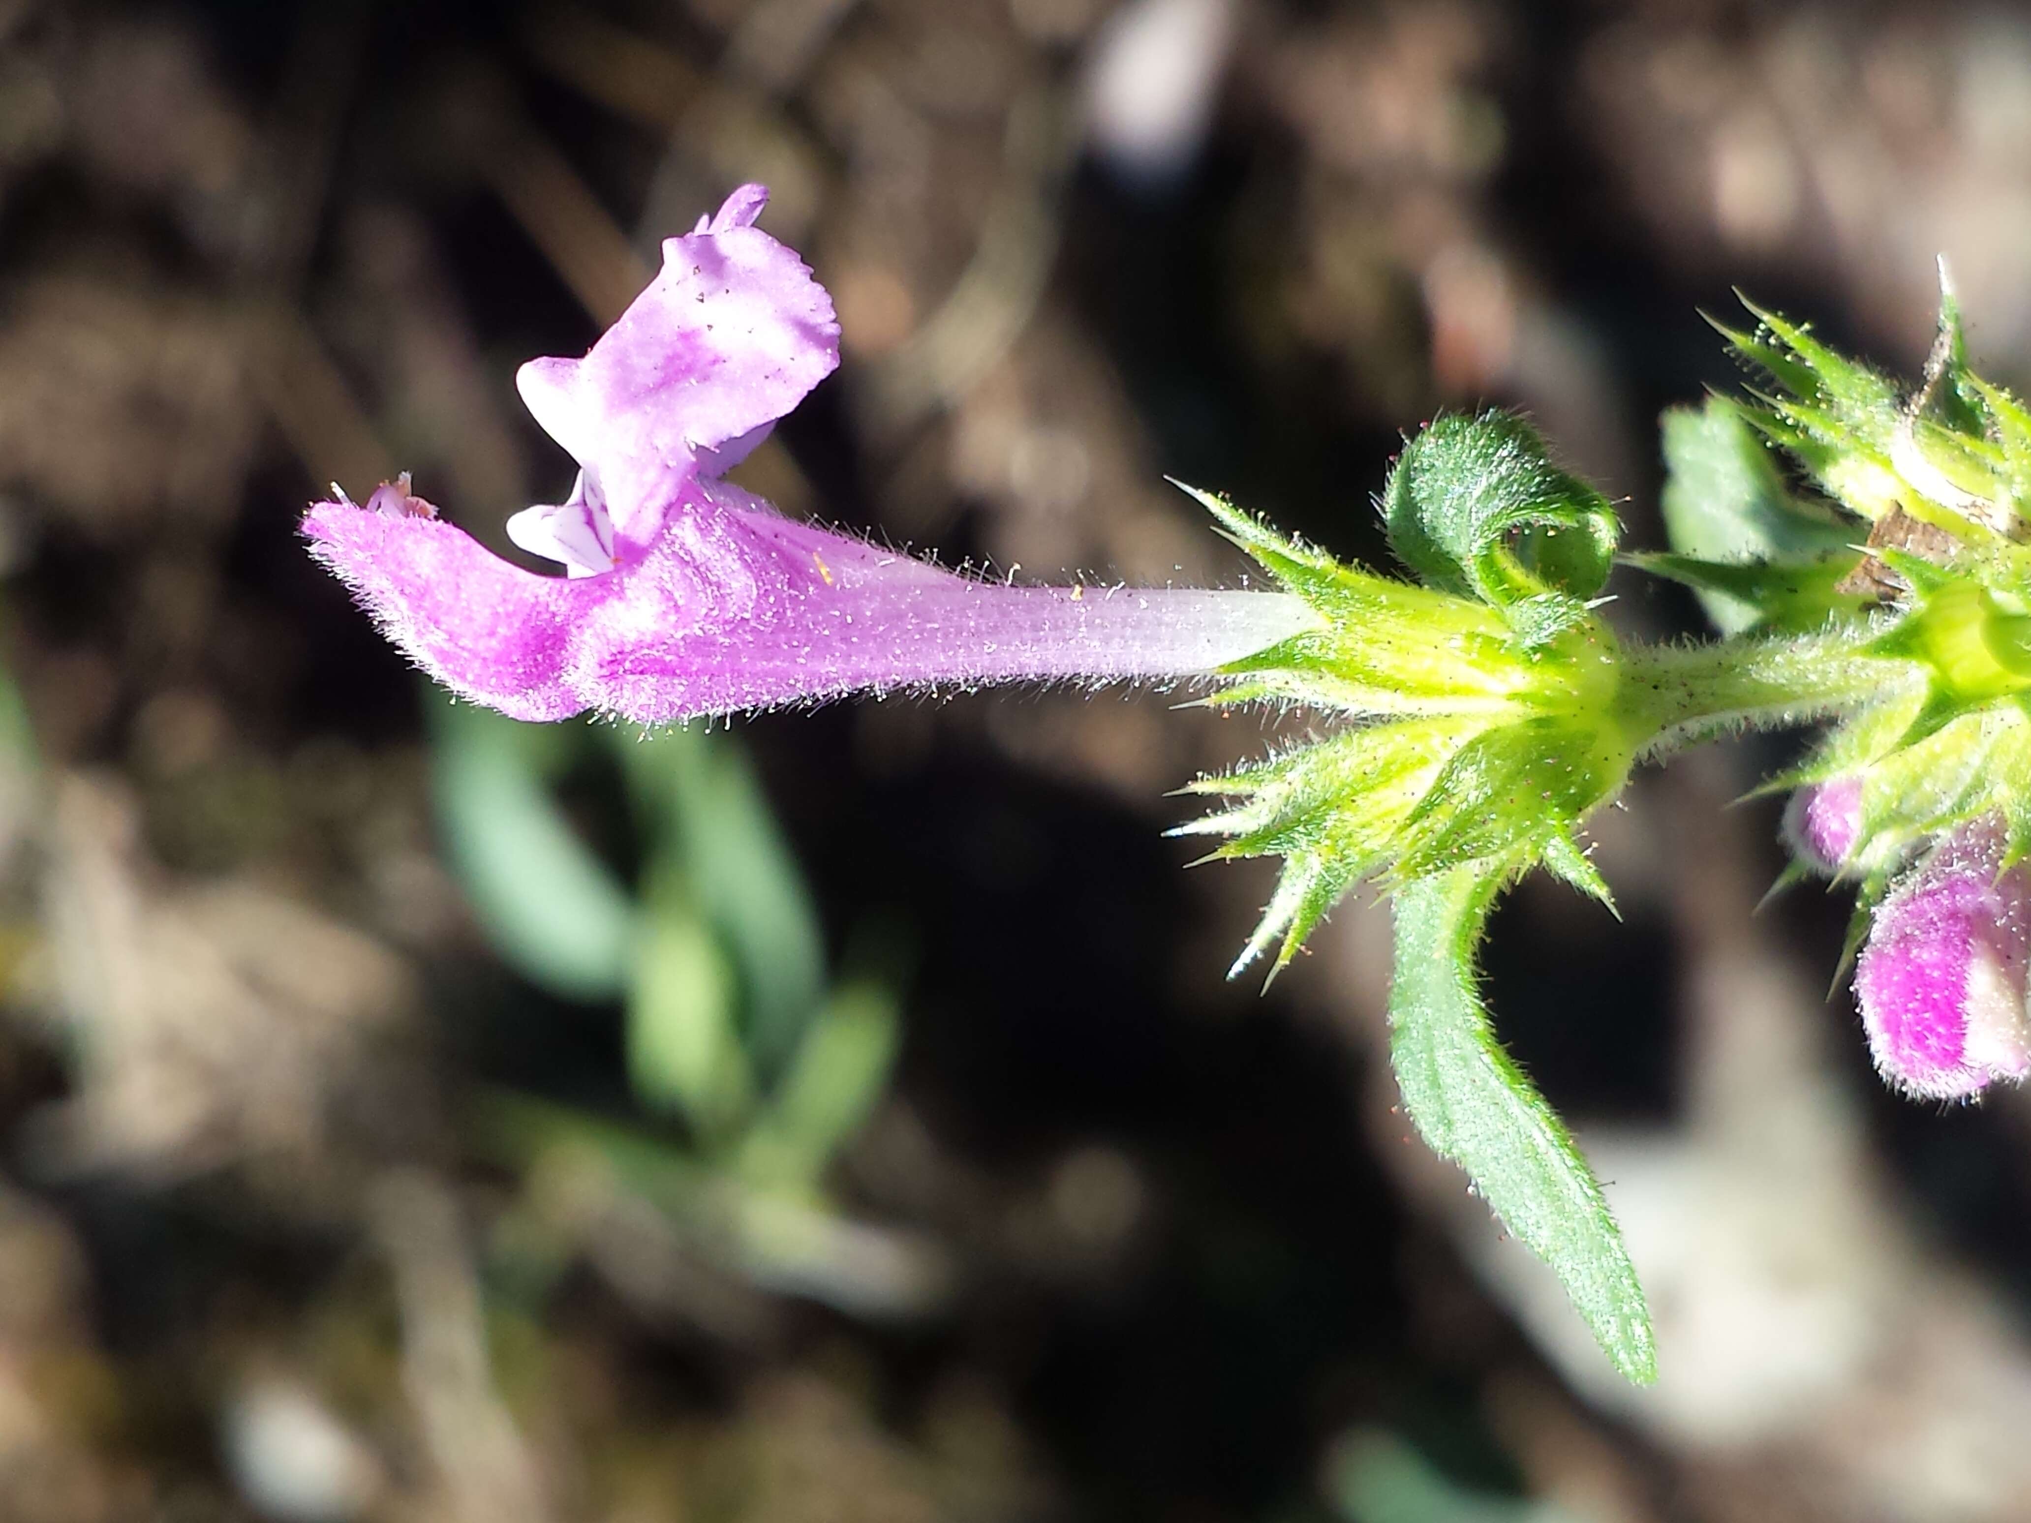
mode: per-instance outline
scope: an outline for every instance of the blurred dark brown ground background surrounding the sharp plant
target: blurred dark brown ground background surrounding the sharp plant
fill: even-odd
[[[303,554],[483,540],[735,183],[841,374],[743,467],[1007,575],[1379,560],[1444,406],[1655,544],[1730,286],[2031,380],[2031,20],[1972,4],[0,0],[0,1517],[2031,1517],[2031,1109],[1881,1092],[1785,743],[1527,883],[1517,1052],[1663,1381],[1405,1139],[1365,896],[1162,839],[1275,723],[971,694],[636,741],[427,690]],[[1629,581],[1617,617],[1694,632]]]

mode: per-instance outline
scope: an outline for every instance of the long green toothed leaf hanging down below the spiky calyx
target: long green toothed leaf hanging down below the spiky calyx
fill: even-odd
[[[1609,1202],[1564,1123],[1497,1042],[1475,989],[1475,946],[1499,887],[1485,863],[1397,887],[1389,1058],[1403,1109],[1552,1265],[1615,1367],[1649,1383],[1649,1310]]]

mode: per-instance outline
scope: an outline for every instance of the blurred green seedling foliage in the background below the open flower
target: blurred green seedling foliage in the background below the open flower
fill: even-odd
[[[640,845],[632,883],[559,794],[599,764]],[[524,1176],[544,1157],[591,1162],[605,1188],[758,1281],[886,1300],[827,1273],[855,1229],[833,1220],[821,1182],[888,1086],[894,981],[827,977],[804,879],[739,745],[705,727],[522,725],[435,701],[433,790],[502,961],[563,999],[621,1003],[642,1111],[615,1121],[494,1095],[483,1149]]]

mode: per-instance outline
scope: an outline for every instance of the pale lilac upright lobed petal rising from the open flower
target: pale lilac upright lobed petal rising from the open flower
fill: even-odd
[[[530,359],[516,384],[585,467],[617,546],[644,548],[701,469],[725,469],[839,363],[833,299],[749,223],[768,191],[662,246],[662,272],[583,359]],[[735,445],[739,453],[721,453]]]

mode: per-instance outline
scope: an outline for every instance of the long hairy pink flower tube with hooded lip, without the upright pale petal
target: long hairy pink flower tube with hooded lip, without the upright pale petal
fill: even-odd
[[[455,692],[518,719],[640,723],[855,690],[1210,672],[1314,623],[1282,593],[1005,587],[794,524],[695,481],[634,562],[534,577],[429,518],[351,504],[305,518],[313,552]]]

